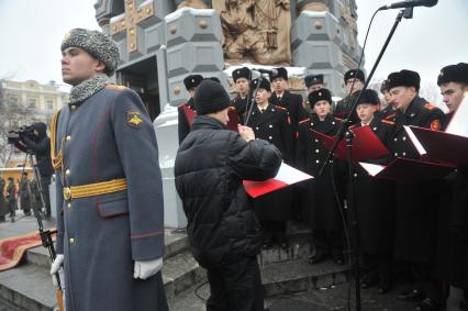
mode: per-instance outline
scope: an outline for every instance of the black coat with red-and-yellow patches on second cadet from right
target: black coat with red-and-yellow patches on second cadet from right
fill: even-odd
[[[441,109],[415,97],[404,113],[395,118],[392,142],[393,157],[419,158],[403,125],[437,129],[444,119]],[[438,191],[433,181],[397,181],[395,257],[432,264],[436,244]]]

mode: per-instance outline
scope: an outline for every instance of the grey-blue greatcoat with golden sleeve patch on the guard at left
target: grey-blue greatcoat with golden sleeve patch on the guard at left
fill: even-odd
[[[67,311],[165,310],[160,273],[133,278],[134,262],[164,256],[156,135],[138,95],[107,86],[65,104],[57,122],[57,254]],[[125,178],[127,189],[64,200],[63,187]]]

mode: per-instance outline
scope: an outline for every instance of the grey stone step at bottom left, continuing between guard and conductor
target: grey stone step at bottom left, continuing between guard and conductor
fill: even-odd
[[[42,247],[43,248],[43,247]],[[38,260],[45,257],[44,252]],[[51,280],[49,266],[26,262],[0,274],[0,311],[54,310],[55,288]],[[63,279],[63,277],[62,277]],[[204,270],[188,251],[165,259],[163,281],[169,301],[205,279]]]

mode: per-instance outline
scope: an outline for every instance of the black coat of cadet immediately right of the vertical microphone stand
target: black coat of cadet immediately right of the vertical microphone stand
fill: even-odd
[[[360,122],[352,129],[359,126],[361,126]],[[388,147],[392,140],[394,124],[376,116],[369,126]],[[385,165],[388,163],[388,157],[361,162]],[[354,182],[354,202],[357,208],[361,251],[370,254],[392,254],[394,245],[394,182],[372,178],[359,165],[354,165],[353,176],[348,179],[347,198],[352,196],[349,182]]]

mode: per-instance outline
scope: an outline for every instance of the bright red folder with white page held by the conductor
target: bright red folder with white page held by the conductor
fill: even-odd
[[[252,198],[257,198],[259,196],[311,178],[313,178],[313,176],[296,169],[285,163],[281,163],[281,166],[275,178],[270,178],[264,181],[244,180],[243,184],[247,195]]]

